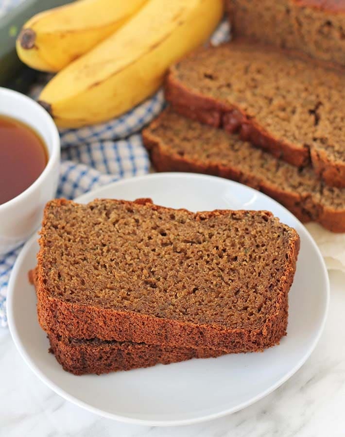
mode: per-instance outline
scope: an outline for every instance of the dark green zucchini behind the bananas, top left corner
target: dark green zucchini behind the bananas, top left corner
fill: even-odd
[[[25,0],[0,17],[0,85],[16,80],[24,68],[16,52],[16,38],[23,24],[38,12],[70,3],[71,0]]]

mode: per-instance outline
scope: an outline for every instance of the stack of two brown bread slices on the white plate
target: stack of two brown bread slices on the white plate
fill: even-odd
[[[297,233],[265,211],[47,204],[31,281],[65,370],[255,352],[286,333]]]

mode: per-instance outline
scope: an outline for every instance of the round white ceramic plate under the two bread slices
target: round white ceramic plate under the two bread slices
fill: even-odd
[[[8,289],[8,320],[17,348],[29,367],[56,393],[107,418],[145,425],[178,425],[238,411],[279,387],[314,349],[328,308],[328,274],[305,227],[285,208],[244,185],[212,176],[158,173],[126,179],[77,199],[134,200],[190,210],[267,209],[301,237],[297,271],[290,291],[288,335],[263,353],[193,359],[169,366],[74,376],[47,352],[48,340],[36,319],[35,291],[27,272],[35,267],[37,237],[24,246]]]

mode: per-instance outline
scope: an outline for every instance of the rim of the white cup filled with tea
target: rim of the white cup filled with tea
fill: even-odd
[[[36,106],[36,108],[40,111],[42,116],[42,123],[46,123],[48,125],[48,128],[50,129],[52,133],[52,152],[48,153],[48,161],[46,167],[43,169],[42,173],[38,176],[35,181],[29,185],[23,192],[18,194],[13,199],[2,203],[0,205],[0,212],[4,210],[5,208],[9,206],[14,206],[16,203],[21,202],[26,196],[30,195],[30,193],[35,190],[37,185],[40,185],[42,181],[45,179],[45,177],[48,175],[48,173],[51,172],[53,166],[55,165],[56,161],[59,160],[60,156],[60,136],[59,132],[57,130],[57,127],[52,119],[52,117],[48,114],[48,112],[42,108],[41,105],[39,105],[35,100],[31,99],[30,97],[26,96],[25,94],[21,94],[17,91],[14,91],[12,89],[4,88],[0,86],[0,96],[1,95],[7,95],[10,96],[11,99],[16,99],[17,101],[26,101],[27,103]],[[6,111],[3,113],[4,116],[6,116]],[[11,117],[9,115],[9,117]],[[31,127],[30,123],[25,123]]]

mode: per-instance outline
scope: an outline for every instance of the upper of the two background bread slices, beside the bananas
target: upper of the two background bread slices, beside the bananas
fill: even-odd
[[[176,111],[271,152],[313,165],[345,186],[345,76],[281,50],[234,41],[198,50],[171,68],[166,97]]]

